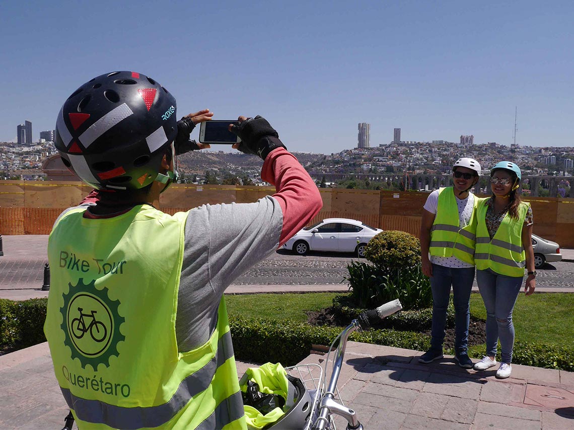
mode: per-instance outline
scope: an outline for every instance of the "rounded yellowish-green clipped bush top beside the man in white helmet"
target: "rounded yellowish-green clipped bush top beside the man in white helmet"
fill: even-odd
[[[421,264],[421,243],[405,231],[385,230],[369,241],[364,256],[383,274]]]

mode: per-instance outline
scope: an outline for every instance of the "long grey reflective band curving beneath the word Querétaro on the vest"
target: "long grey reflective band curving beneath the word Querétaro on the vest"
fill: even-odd
[[[68,406],[76,412],[78,419],[88,423],[106,424],[113,428],[138,429],[159,427],[171,420],[193,396],[205,391],[220,365],[233,355],[231,332],[218,341],[218,352],[201,369],[185,378],[168,402],[147,408],[123,408],[99,400],[88,400],[74,396],[69,389],[60,388]],[[243,405],[241,406],[243,414]],[[240,415],[241,416],[241,415]]]

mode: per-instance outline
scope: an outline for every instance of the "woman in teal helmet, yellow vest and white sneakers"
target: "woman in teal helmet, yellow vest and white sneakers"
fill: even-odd
[[[474,365],[486,370],[497,365],[498,340],[501,364],[497,378],[511,373],[514,326],[512,311],[524,277],[528,278],[527,296],[536,288],[534,251],[532,250],[533,215],[530,203],[521,202],[518,188],[522,174],[511,161],[497,163],[490,172],[492,197],[484,199],[476,210],[476,281],[486,307],[486,356]]]

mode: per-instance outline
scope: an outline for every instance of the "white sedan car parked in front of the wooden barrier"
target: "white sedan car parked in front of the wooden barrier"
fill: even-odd
[[[364,256],[364,247],[381,228],[367,226],[356,219],[326,218],[311,227],[304,227],[290,238],[284,249],[305,255],[311,251],[356,253]]]

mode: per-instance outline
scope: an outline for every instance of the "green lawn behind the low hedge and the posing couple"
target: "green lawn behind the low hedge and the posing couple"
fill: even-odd
[[[307,321],[306,311],[319,311],[332,304],[337,293],[255,294],[226,296],[230,316],[247,318]],[[471,295],[471,313],[486,319],[482,297]],[[516,339],[523,342],[546,343],[555,346],[574,345],[572,315],[574,294],[536,293],[518,296],[513,321]]]

